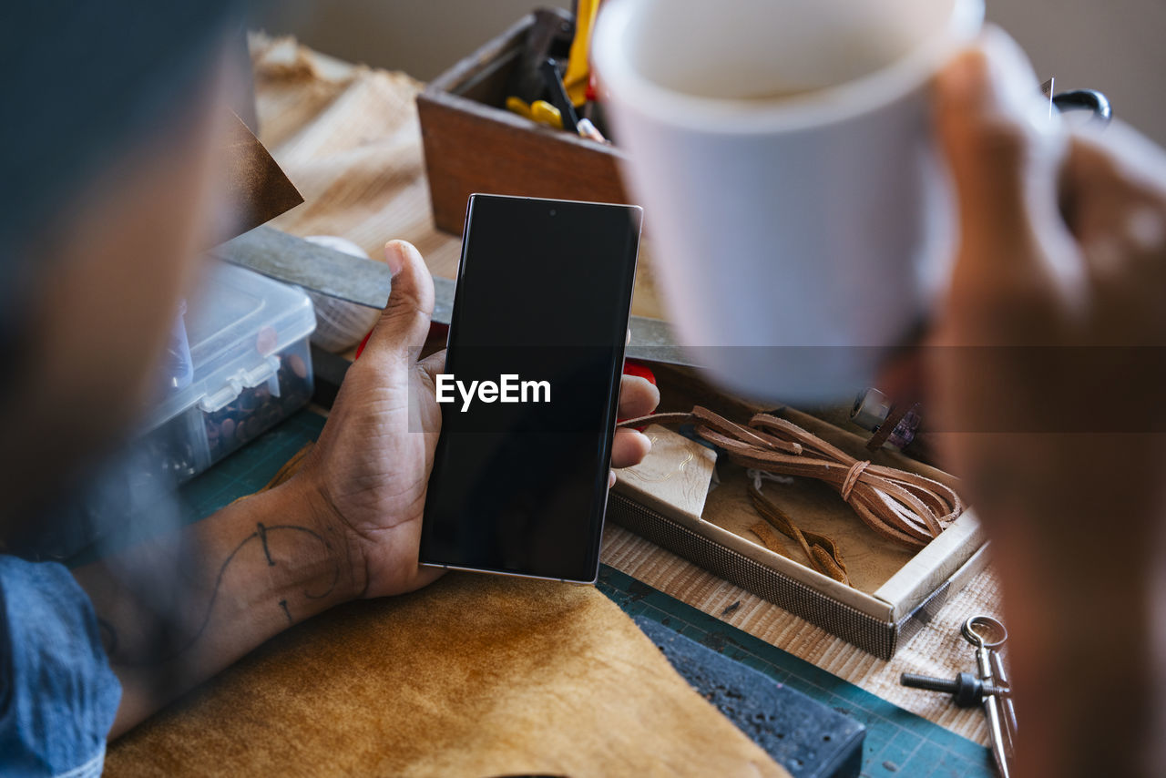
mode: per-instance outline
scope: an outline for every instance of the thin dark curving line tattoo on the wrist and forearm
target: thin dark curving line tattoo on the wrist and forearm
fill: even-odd
[[[219,600],[219,591],[223,588],[223,581],[227,570],[232,568],[232,562],[239,558],[239,554],[247,548],[248,545],[254,545],[253,541],[258,541],[258,544],[262,547],[266,566],[278,566],[278,558],[272,555],[271,542],[273,537],[275,539],[283,538],[285,540],[300,537],[302,539],[310,539],[310,541],[318,544],[326,559],[331,560],[331,582],[324,586],[321,591],[310,591],[305,589],[302,595],[308,600],[321,600],[332,594],[340,580],[342,570],[340,561],[326,538],[321,535],[318,532],[303,526],[290,524],[266,526],[262,523],[257,523],[255,531],[244,538],[239,545],[236,546],[230,554],[227,554],[226,559],[223,560],[223,563],[219,566],[218,573],[215,576],[213,587],[211,588],[210,598],[205,605],[205,611],[194,630],[183,630],[173,622],[162,621],[154,630],[152,630],[153,636],[149,640],[147,640],[148,645],[142,647],[140,651],[131,652],[128,646],[122,645],[122,642],[119,640],[118,632],[113,624],[106,619],[98,619],[101,628],[103,639],[106,644],[106,652],[108,653],[112,664],[126,667],[161,665],[178,658],[187,651],[190,651],[190,649],[192,649],[202,639],[208,625],[211,623],[211,617],[215,614],[215,607]],[[295,619],[292,616],[288,601],[286,598],[280,598],[278,601],[278,607],[287,618],[288,624],[294,624]]]

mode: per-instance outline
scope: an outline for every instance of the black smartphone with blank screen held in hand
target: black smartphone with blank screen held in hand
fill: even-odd
[[[422,565],[596,581],[640,222],[470,196]]]

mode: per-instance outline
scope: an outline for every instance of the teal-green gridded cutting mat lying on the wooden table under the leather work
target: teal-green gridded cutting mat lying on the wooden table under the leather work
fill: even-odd
[[[196,520],[261,489],[324,419],[301,411],[182,489],[184,517]],[[599,591],[631,616],[644,615],[866,724],[863,776],[908,778],[995,776],[988,749],[831,675],[791,653],[602,566]]]

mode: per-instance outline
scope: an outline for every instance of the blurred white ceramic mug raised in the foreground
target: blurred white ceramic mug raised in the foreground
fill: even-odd
[[[609,0],[591,58],[681,343],[729,388],[852,397],[950,262],[929,82],[982,0]]]

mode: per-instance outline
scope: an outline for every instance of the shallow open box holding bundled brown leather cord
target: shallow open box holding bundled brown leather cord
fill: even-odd
[[[698,404],[744,422],[753,413],[767,411],[852,456],[869,455],[864,436],[816,416],[726,397],[686,370],[666,365],[653,365],[653,370],[662,412],[688,411]],[[925,548],[913,551],[870,530],[826,484],[802,478],[791,485],[765,484],[764,493],[803,531],[821,532],[838,542],[850,567],[854,586],[848,587],[800,561],[796,553],[785,556],[750,539],[747,527],[760,517],[747,497],[743,468],[719,457],[719,483],[708,492],[697,516],[677,510],[677,500],[669,493],[676,486],[661,488],[659,472],[663,470],[659,465],[653,470],[652,456],[649,453],[638,468],[616,471],[607,519],[881,659],[891,659],[986,562],[984,533],[970,510]],[[872,460],[958,486],[953,476],[898,451],[883,449]],[[677,472],[684,467],[674,465],[670,470]],[[640,468],[647,477],[637,477],[634,471]],[[691,491],[689,485],[683,489]],[[794,548],[792,544],[789,548]]]

